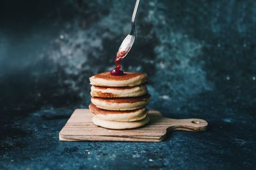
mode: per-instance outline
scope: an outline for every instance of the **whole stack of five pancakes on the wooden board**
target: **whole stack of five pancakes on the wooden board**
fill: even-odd
[[[108,129],[132,129],[148,123],[145,107],[150,99],[147,74],[109,72],[90,77],[92,103],[89,108],[95,125]]]

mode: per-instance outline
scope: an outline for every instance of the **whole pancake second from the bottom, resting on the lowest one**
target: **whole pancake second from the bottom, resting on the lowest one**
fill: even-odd
[[[101,120],[111,120],[117,122],[134,122],[145,118],[148,114],[147,108],[143,107],[131,111],[111,111],[97,108],[94,104],[89,105],[93,115]]]

